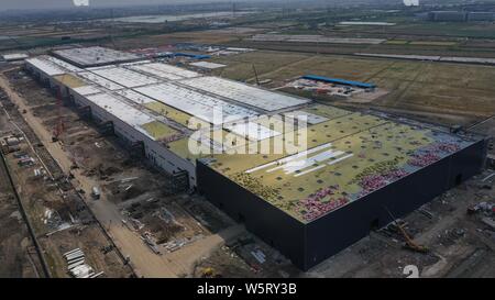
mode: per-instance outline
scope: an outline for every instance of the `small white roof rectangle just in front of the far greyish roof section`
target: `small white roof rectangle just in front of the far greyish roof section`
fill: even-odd
[[[158,79],[121,67],[91,70],[101,77],[127,88],[135,88],[158,82]]]

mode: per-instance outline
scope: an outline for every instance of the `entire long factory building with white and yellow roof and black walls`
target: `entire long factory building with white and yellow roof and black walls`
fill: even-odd
[[[26,69],[305,270],[475,175],[486,157],[482,136],[100,47],[30,58]],[[223,119],[215,118],[217,108]],[[308,122],[279,132],[266,115]],[[200,138],[198,122],[212,125]],[[296,154],[232,154],[302,131],[307,149]],[[217,154],[191,153],[193,136]]]

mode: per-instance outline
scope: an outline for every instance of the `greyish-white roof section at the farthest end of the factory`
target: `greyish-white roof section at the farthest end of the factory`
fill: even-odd
[[[56,55],[80,66],[105,65],[139,59],[140,56],[103,47],[86,47],[55,51]]]

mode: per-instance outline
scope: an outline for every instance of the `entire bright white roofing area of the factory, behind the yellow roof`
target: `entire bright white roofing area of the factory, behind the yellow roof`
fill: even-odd
[[[86,52],[80,49],[80,53]],[[73,49],[72,54],[75,53],[76,49]],[[229,79],[205,77],[185,68],[148,60],[85,69],[50,56],[29,58],[26,62],[50,76],[73,74],[80,77],[86,85],[74,88],[78,95],[141,132],[141,124],[162,120],[146,113],[144,108],[146,103],[157,101],[213,125],[230,124],[229,129],[233,133],[260,141],[279,133],[254,122],[245,123],[249,118],[310,102],[309,99]],[[309,123],[326,120],[322,116],[306,114]],[[238,124],[233,124],[234,122]]]

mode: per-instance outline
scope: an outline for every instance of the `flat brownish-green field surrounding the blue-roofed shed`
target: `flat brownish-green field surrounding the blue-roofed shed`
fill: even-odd
[[[235,80],[254,82],[256,68],[260,80],[271,80],[266,88],[280,88],[300,76],[314,74],[373,82],[387,91],[373,101],[336,100],[316,93],[295,93],[334,105],[367,109],[419,116],[446,124],[471,125],[495,114],[491,66],[436,64],[395,59],[369,59],[341,55],[300,52],[256,51],[216,57],[227,67],[213,74]],[[292,90],[290,92],[293,92]]]

